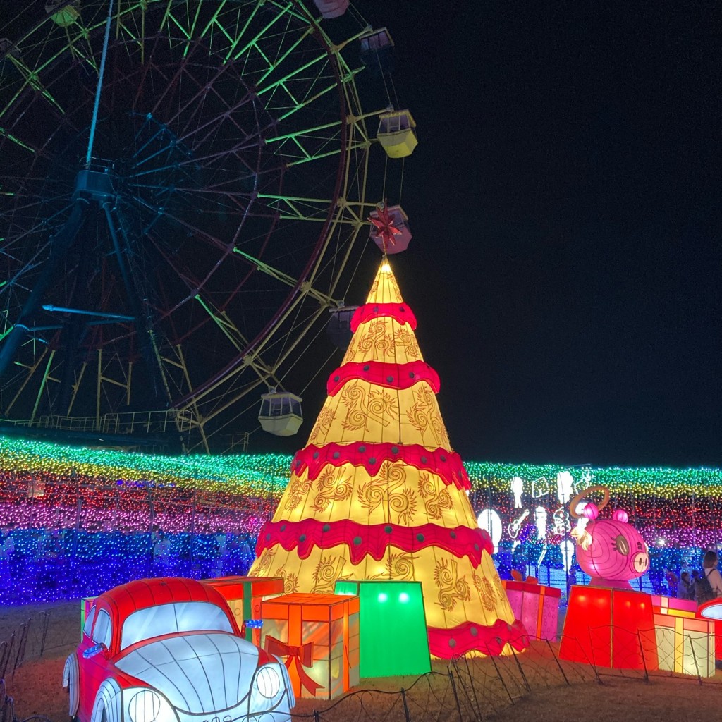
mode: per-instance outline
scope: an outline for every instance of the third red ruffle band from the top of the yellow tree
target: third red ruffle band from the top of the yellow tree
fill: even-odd
[[[291,462],[291,471],[301,474],[308,469],[308,478],[313,482],[321,469],[327,464],[332,466],[363,466],[374,477],[384,461],[402,461],[419,471],[430,471],[441,477],[444,484],[453,484],[461,490],[471,489],[469,474],[464,469],[461,456],[456,451],[444,448],[427,449],[419,444],[366,443],[356,441],[351,444],[329,443],[323,446],[309,444],[296,453]]]

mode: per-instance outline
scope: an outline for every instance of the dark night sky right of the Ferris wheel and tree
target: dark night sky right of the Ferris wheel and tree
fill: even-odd
[[[718,5],[357,8],[418,126],[393,268],[453,447],[722,464]]]

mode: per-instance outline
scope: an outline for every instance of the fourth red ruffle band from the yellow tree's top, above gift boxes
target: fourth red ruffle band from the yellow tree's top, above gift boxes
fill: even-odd
[[[398,524],[360,524],[350,519],[327,521],[267,521],[256,542],[256,555],[280,544],[287,552],[298,547],[298,556],[307,559],[314,547],[331,549],[347,544],[349,560],[359,564],[366,554],[376,561],[383,559],[388,547],[403,552],[418,552],[426,547],[440,547],[455,557],[469,557],[479,566],[482,552],[492,554],[494,544],[484,529],[469,526],[448,528],[437,524],[399,526]]]

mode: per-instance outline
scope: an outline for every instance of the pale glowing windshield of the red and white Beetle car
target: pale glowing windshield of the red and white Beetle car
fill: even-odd
[[[175,632],[232,632],[223,609],[208,601],[159,604],[133,612],[123,624],[121,649]]]

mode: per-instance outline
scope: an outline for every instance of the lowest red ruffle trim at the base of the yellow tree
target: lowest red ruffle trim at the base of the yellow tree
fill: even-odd
[[[451,629],[427,627],[427,630],[429,651],[441,659],[461,656],[472,650],[496,657],[507,644],[518,652],[529,646],[529,635],[518,619],[513,624],[497,619],[490,627],[464,622]]]

